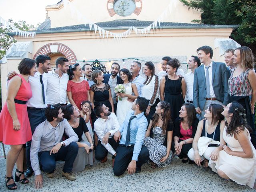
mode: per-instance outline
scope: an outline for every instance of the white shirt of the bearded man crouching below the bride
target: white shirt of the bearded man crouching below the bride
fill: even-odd
[[[118,131],[119,128],[120,125],[114,113],[111,113],[110,116],[108,116],[107,120],[103,118],[98,118],[94,122],[94,132],[97,134],[98,140],[101,141],[101,144],[112,155],[114,155],[116,151],[112,148],[112,146],[109,143],[104,144],[102,142],[102,139],[107,132],[110,132],[109,138],[112,138],[112,136],[114,136],[114,134]]]

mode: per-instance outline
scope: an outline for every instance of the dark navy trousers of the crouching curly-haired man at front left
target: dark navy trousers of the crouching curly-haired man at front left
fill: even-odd
[[[38,153],[39,163],[44,172],[53,173],[56,161],[65,161],[63,172],[70,173],[73,163],[78,153],[78,145],[76,142],[70,143],[68,146],[62,146],[58,153],[51,154],[50,151],[42,151]]]

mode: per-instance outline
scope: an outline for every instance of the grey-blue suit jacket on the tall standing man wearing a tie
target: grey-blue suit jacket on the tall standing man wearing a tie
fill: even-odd
[[[228,96],[228,72],[226,64],[221,62],[212,62],[212,86],[216,99],[227,105]],[[194,106],[201,110],[206,101],[206,78],[204,65],[202,64],[194,71],[193,102]]]

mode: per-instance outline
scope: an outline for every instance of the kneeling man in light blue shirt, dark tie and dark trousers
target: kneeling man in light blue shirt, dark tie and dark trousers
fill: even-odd
[[[132,110],[114,134],[114,140],[116,142],[120,140],[113,167],[116,176],[122,175],[126,169],[128,174],[140,172],[142,164],[148,161],[148,149],[142,145],[148,126],[148,121],[144,116],[147,106],[148,102],[144,97],[134,100]]]

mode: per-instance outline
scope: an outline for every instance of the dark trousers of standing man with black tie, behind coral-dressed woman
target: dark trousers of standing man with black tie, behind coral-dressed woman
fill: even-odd
[[[34,134],[36,127],[40,123],[42,123],[46,120],[44,110],[28,109],[28,119],[30,122],[32,134]],[[32,169],[31,162],[30,162],[30,146],[31,146],[31,140],[26,143],[26,158],[27,158],[27,167]]]

